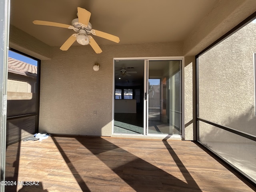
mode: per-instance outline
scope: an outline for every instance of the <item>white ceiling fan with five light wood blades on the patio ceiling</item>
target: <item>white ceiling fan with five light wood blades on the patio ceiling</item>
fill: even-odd
[[[81,45],[90,44],[90,46],[92,46],[93,50],[96,53],[101,53],[102,50],[100,46],[98,46],[94,38],[92,38],[92,36],[90,36],[89,34],[93,34],[95,36],[102,37],[116,43],[120,41],[117,36],[92,29],[92,24],[90,24],[89,22],[91,13],[86,9],[78,7],[77,16],[78,18],[72,20],[71,26],[67,24],[61,24],[61,23],[50,22],[50,21],[40,21],[40,20],[34,20],[33,23],[36,25],[46,25],[46,26],[73,29],[76,33],[72,34],[66,40],[66,42],[64,42],[64,44],[60,47],[60,49],[63,51],[68,50],[70,46],[72,46],[72,44],[75,41],[77,41]]]

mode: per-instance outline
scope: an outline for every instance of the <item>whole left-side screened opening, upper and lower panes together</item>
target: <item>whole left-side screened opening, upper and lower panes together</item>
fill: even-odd
[[[38,61],[11,50],[8,56],[7,145],[35,133],[38,112]],[[35,116],[19,117],[28,114]]]

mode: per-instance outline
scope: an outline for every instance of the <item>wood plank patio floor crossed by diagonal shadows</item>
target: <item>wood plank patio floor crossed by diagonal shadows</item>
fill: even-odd
[[[194,142],[52,136],[6,151],[6,192],[252,192]],[[25,186],[21,181],[37,181]]]

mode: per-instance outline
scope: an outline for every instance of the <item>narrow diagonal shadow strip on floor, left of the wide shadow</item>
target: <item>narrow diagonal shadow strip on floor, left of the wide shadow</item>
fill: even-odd
[[[78,173],[78,171],[76,170],[76,168],[73,166],[72,162],[69,160],[68,156],[65,154],[64,150],[61,148],[60,144],[56,141],[56,139],[52,136],[51,137],[52,140],[54,141],[56,147],[58,148],[58,150],[60,151],[60,153],[62,154],[62,157],[64,158],[66,164],[68,165],[68,168],[70,169],[70,171],[72,172],[72,174],[74,175],[74,178],[76,178],[77,183],[79,184],[81,190],[83,192],[90,192],[89,188],[87,187],[86,183],[84,182],[84,180],[82,179],[82,176],[80,176],[80,174]]]

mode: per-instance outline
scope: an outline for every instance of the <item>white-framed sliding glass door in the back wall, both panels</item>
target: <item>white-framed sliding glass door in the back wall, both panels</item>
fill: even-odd
[[[182,58],[118,58],[114,71],[114,134],[181,135]]]

